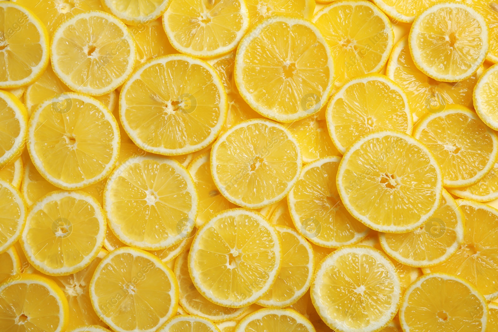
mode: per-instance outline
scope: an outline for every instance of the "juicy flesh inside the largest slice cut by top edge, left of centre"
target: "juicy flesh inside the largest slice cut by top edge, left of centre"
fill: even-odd
[[[216,51],[238,37],[244,27],[242,10],[240,1],[173,0],[167,10],[167,25],[181,47]]]

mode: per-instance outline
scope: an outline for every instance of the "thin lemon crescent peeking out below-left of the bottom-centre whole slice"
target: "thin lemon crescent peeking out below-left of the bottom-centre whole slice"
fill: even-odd
[[[175,261],[175,276],[180,289],[179,304],[191,315],[207,318],[213,322],[221,322],[239,318],[249,307],[227,308],[214,304],[204,298],[195,288],[188,272],[188,253],[185,250]]]

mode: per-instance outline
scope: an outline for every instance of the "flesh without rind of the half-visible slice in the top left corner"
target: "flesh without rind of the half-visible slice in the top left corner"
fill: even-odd
[[[0,44],[6,46],[0,52],[0,82],[24,80],[42,61],[42,36],[29,16],[13,6],[0,7],[0,27]]]

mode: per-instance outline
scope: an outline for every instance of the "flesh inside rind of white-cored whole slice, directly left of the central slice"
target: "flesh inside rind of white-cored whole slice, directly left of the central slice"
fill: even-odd
[[[109,189],[112,224],[132,241],[179,240],[178,225],[190,218],[194,208],[187,186],[169,164],[151,159],[131,163]]]

